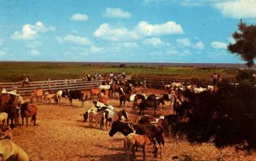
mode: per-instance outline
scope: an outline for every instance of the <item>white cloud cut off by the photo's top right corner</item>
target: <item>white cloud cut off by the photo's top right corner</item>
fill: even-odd
[[[224,16],[231,18],[255,18],[256,1],[255,0],[233,0],[214,5]]]

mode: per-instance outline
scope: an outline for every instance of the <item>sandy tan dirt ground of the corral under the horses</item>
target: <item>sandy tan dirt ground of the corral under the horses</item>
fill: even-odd
[[[163,94],[164,91],[149,89],[149,93]],[[28,101],[28,98],[24,98]],[[92,106],[92,101],[85,101],[84,107],[80,107],[79,101],[73,101],[69,106],[67,99],[62,99],[61,105],[38,105],[38,126],[19,125],[13,130],[13,141],[20,145],[32,161],[123,161],[125,151],[123,149],[124,135],[108,135],[109,129],[90,128],[89,123],[83,122],[83,112]],[[108,104],[118,110],[117,99],[108,100]],[[131,102],[126,102],[131,121],[137,118],[137,112],[131,112]],[[171,110],[157,111],[157,114],[167,114]],[[146,111],[146,113],[152,113]],[[20,120],[21,123],[21,120]],[[234,147],[218,149],[211,143],[191,144],[188,141],[169,141],[166,138],[166,146],[163,150],[163,158],[153,158],[151,148],[148,148],[147,160],[256,160],[256,153],[236,152]],[[137,152],[137,160],[142,160],[142,152]]]

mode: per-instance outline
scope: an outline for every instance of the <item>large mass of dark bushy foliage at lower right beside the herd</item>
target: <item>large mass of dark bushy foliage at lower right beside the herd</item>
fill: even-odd
[[[217,93],[195,95],[186,91],[184,95],[189,98],[189,115],[183,122],[186,131],[181,132],[187,134],[189,141],[205,142],[213,138],[217,147],[256,148],[256,89],[251,83],[235,87],[224,80]]]

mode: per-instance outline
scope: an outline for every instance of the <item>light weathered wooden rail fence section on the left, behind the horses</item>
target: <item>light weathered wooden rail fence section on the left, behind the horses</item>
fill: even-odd
[[[131,76],[127,76],[125,80],[131,79]],[[5,88],[7,91],[17,90],[17,93],[21,96],[31,95],[34,89],[42,88],[44,91],[60,90],[60,89],[78,89],[86,90],[90,88],[96,88],[102,84],[103,79],[92,80],[90,83],[83,82],[82,79],[66,79],[66,80],[51,80],[51,81],[36,81],[30,82],[29,85],[22,87],[22,83],[0,83],[0,89]]]

